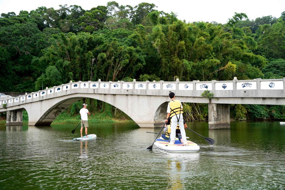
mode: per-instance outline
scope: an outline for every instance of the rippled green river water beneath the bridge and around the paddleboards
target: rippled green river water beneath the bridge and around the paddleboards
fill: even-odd
[[[188,123],[213,146],[194,153],[147,150],[160,129],[89,124],[97,139],[72,141],[76,124],[0,126],[0,189],[285,189],[285,125],[232,122],[228,130]],[[84,132],[83,132],[84,133]]]

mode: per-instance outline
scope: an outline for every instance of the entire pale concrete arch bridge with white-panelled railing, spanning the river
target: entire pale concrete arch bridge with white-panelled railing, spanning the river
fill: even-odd
[[[208,90],[213,98],[202,97]],[[71,82],[0,101],[0,113],[7,112],[7,125],[22,124],[22,111],[29,125],[50,125],[69,105],[94,98],[107,102],[134,120],[140,127],[153,128],[164,123],[168,94],[181,102],[208,103],[209,129],[229,128],[230,104],[285,105],[285,78],[191,82]],[[7,104],[6,108],[3,104]]]

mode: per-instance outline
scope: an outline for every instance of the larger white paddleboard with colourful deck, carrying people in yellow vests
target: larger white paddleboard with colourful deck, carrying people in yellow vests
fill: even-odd
[[[168,140],[164,140],[162,137],[156,139],[153,145],[157,148],[162,149],[164,151],[170,152],[198,152],[200,150],[200,146],[196,143],[193,143],[190,140],[187,140],[188,146],[183,146],[178,138],[175,139],[174,145],[169,145]]]

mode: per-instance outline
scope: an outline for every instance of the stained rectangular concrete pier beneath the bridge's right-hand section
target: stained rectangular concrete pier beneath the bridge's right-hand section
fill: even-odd
[[[229,104],[209,104],[209,129],[229,129]]]

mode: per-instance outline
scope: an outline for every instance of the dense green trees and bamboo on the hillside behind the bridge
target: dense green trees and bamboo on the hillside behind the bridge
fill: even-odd
[[[211,81],[285,77],[285,11],[279,18],[249,20],[235,13],[227,23],[186,23],[175,10],[110,1],[84,10],[38,7],[2,13],[0,91],[31,92],[72,81]],[[100,121],[129,118],[111,105],[84,99]],[[82,102],[82,101],[81,101]],[[71,122],[79,103],[55,122]],[[187,121],[204,121],[206,104],[185,104]],[[64,115],[67,114],[67,115]],[[63,116],[64,115],[64,116]],[[59,119],[62,118],[62,119]],[[284,106],[232,105],[231,118],[284,119]],[[76,119],[75,119],[76,120]],[[74,120],[74,121],[75,121]],[[73,120],[72,120],[73,121]]]

